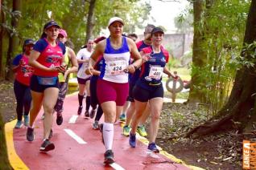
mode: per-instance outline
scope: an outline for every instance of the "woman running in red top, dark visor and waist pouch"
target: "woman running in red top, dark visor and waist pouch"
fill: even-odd
[[[35,43],[29,59],[29,64],[34,67],[35,72],[31,77],[32,107],[30,123],[27,128],[27,140],[33,141],[35,138],[34,121],[43,105],[41,152],[55,148],[54,144],[49,141],[52,136],[52,113],[59,94],[58,74],[65,71],[65,65],[62,65],[65,46],[62,42],[56,41],[59,31],[60,26],[55,21],[47,22],[43,26],[41,39]]]

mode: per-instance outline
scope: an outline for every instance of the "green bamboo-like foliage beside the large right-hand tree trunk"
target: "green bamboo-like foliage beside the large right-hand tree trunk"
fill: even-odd
[[[192,76],[201,80],[193,87],[204,92],[204,102],[211,103],[213,114],[228,99],[234,75],[242,66],[239,58],[249,6],[246,0],[216,0],[212,6],[204,6],[200,31],[204,33],[201,48],[206,53],[207,64],[193,65]]]

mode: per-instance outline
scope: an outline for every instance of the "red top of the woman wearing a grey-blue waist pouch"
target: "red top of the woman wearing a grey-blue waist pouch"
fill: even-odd
[[[58,67],[62,62],[62,58],[63,58],[63,51],[60,48],[60,46],[56,44],[56,47],[52,47],[48,43],[47,47],[39,55],[37,62],[39,62],[40,64],[48,68]],[[39,68],[35,68],[35,73],[34,73],[34,75],[39,75],[43,77],[55,77],[55,76],[58,76],[58,74],[59,74],[58,71],[43,71]]]

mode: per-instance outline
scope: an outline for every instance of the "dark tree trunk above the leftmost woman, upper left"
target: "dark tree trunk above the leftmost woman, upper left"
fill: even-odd
[[[11,60],[14,58],[14,51],[17,49],[17,27],[19,22],[19,13],[21,1],[20,0],[13,0],[13,9],[12,9],[12,19],[11,19],[11,26],[12,32],[9,34],[9,47],[7,51],[7,59],[6,59],[6,79],[10,80],[13,78],[13,72],[11,71]]]

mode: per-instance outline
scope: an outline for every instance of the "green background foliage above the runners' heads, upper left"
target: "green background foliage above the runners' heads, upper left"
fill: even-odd
[[[4,0],[2,11],[6,14],[6,23],[1,26],[9,35],[17,34],[19,37],[19,48],[14,54],[19,54],[25,38],[39,39],[43,33],[44,23],[55,20],[67,30],[68,38],[74,43],[75,51],[85,44],[86,24],[89,11],[89,1],[85,0],[22,0],[21,11],[11,12],[11,0]],[[101,30],[107,28],[109,18],[122,17],[125,22],[125,31],[133,32],[135,27],[142,28],[142,23],[147,20],[151,6],[148,2],[138,0],[97,0],[93,15],[93,37],[96,38]],[[49,17],[48,14],[52,13]],[[14,30],[11,26],[11,18],[19,16],[19,27]],[[107,36],[107,35],[106,35]],[[3,56],[6,56],[6,45],[3,47]],[[3,59],[5,62],[5,59]],[[5,63],[4,63],[5,65]]]

